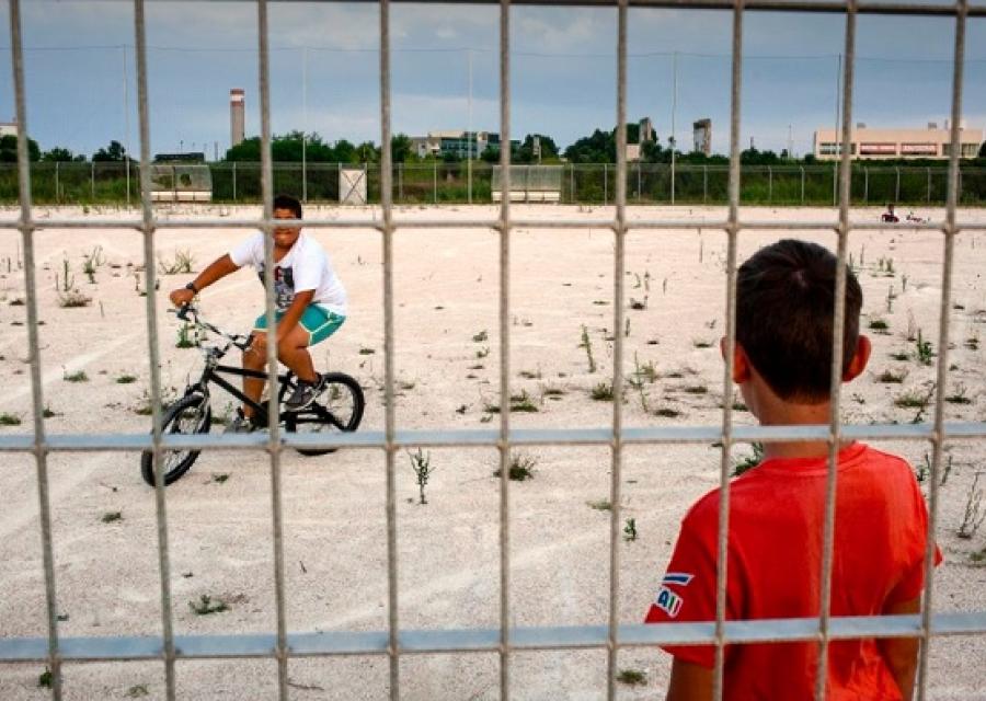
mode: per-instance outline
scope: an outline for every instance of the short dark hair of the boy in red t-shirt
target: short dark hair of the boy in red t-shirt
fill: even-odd
[[[838,260],[816,243],[783,239],[757,251],[736,279],[736,342],[786,400],[828,397]],[[846,269],[842,367],[856,353],[862,290]]]

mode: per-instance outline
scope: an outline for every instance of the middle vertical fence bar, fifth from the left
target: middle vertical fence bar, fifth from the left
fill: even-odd
[[[511,698],[511,0],[500,0],[500,698]]]

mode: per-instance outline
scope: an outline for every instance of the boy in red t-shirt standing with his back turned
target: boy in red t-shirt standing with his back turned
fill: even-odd
[[[837,260],[826,249],[783,240],[740,267],[733,380],[763,425],[827,424]],[[842,381],[867,365],[859,334],[862,291],[846,280]],[[725,352],[725,340],[722,342]],[[910,467],[859,443],[838,455],[833,616],[916,613],[924,587],[928,515]],[[731,484],[725,617],[817,617],[828,444],[769,443],[765,459]],[[720,491],[681,522],[646,622],[715,619]],[[940,554],[938,555],[940,560]],[[829,643],[826,698],[912,698],[918,639]],[[668,645],[669,701],[712,698],[715,648]],[[813,698],[814,642],[726,645],[723,698]]]

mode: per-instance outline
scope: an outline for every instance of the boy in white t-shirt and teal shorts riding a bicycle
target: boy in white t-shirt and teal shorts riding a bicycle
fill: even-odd
[[[274,198],[275,219],[301,219],[301,203],[290,195]],[[285,401],[288,411],[301,411],[321,392],[322,378],[316,372],[308,347],[331,336],[346,320],[346,290],[335,275],[328,254],[319,243],[291,225],[276,227],[274,235],[274,304],[277,358],[298,377],[298,387]],[[244,265],[256,269],[264,280],[264,234],[257,232],[228,254],[210,263],[183,288],[171,292],[176,307],[213,283]],[[243,353],[243,368],[263,370],[267,363],[267,319],[262,312],[254,322],[253,343]],[[244,378],[243,393],[260,402],[265,381]],[[256,428],[253,410],[244,405],[227,433],[250,433]]]

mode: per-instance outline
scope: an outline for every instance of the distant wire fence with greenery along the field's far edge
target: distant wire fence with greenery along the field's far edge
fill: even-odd
[[[259,204],[263,197],[260,163],[208,163],[213,202]],[[273,163],[274,191],[306,202],[337,203],[339,174],[344,168],[366,172],[367,196],[380,204],[382,176],[378,163]],[[496,165],[490,163],[394,163],[390,174],[393,204],[491,204],[500,189]],[[616,204],[617,166],[609,163],[514,165],[514,182],[524,182],[538,168],[552,169],[552,188],[563,204]],[[534,176],[537,177],[537,176]],[[557,180],[557,182],[554,182]],[[942,165],[852,165],[850,204],[943,206],[948,202],[949,170]],[[628,163],[628,205],[726,205],[729,165]],[[35,204],[131,205],[140,197],[137,168],[125,163],[32,163]],[[956,202],[986,205],[986,169],[959,169]],[[18,202],[18,172],[0,163],[0,202]],[[742,165],[740,203],[746,205],[833,206],[838,202],[838,163],[813,165]]]

